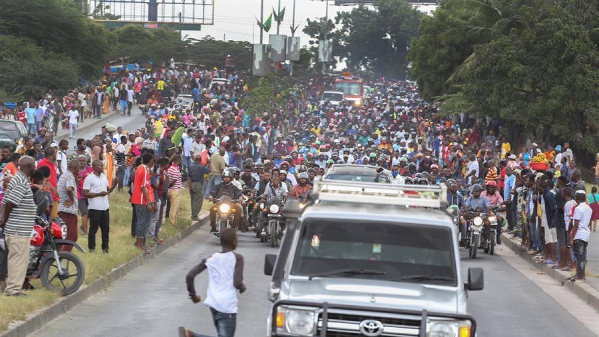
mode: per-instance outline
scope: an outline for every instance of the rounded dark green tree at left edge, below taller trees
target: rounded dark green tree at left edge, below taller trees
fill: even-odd
[[[66,55],[44,50],[29,40],[0,35],[1,100],[42,97],[47,89],[65,94],[78,85],[78,67]]]

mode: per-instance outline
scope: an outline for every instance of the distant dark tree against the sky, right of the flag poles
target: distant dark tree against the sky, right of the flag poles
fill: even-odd
[[[318,40],[333,40],[335,62],[345,61],[350,70],[369,70],[388,78],[406,78],[406,54],[418,35],[423,16],[404,0],[376,0],[373,7],[360,5],[339,12],[335,21],[307,20],[303,29],[316,54]]]

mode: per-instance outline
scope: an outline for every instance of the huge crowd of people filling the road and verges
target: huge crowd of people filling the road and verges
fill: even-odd
[[[6,280],[7,294],[22,294],[23,266],[15,265],[26,261],[33,225],[17,221],[20,212],[59,216],[68,225],[68,239],[87,235],[90,251],[101,230],[101,248],[108,253],[107,195],[125,188],[134,210],[134,245],[147,254],[148,239],[163,242],[163,218],[177,222],[184,188],[197,220],[205,198],[239,198],[244,189],[297,198],[310,190],[314,177],[340,163],[376,166],[398,185],[446,183],[448,203],[464,209],[499,207],[506,212],[507,230],[522,237],[522,249],[537,255],[539,263],[576,269],[572,280],[584,280],[599,194],[596,186],[586,190],[568,143],[515,143],[498,119],[446,116],[423,101],[413,83],[383,79],[368,82],[373,92],[360,106],[350,101],[333,106],[320,103],[320,97],[334,86],[334,76],[298,77],[285,104],[256,113],[244,106],[247,76],[233,68],[135,67],[66,97],[49,92],[23,108],[4,109],[2,118],[22,120],[33,136],[1,152],[0,225],[8,253],[0,261],[0,282]],[[210,86],[216,77],[229,83]],[[173,96],[187,88],[192,106],[171,109]],[[53,139],[59,123],[75,137],[78,121],[111,107],[130,114],[135,102],[148,106],[147,122],[137,130],[105,125],[93,139],[75,144]],[[534,165],[541,162],[541,169]],[[599,179],[599,167],[595,175]],[[31,194],[23,192],[27,184]],[[35,203],[17,202],[22,198]],[[240,218],[235,217],[235,227]],[[214,230],[214,216],[211,220]]]

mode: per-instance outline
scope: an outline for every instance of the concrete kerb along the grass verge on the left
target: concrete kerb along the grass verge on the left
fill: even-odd
[[[34,314],[30,315],[25,321],[19,321],[17,323],[12,323],[7,331],[2,333],[0,337],[25,337],[30,335],[31,333],[36,332],[41,329],[44,324],[49,323],[52,320],[60,317],[62,314],[65,314],[67,311],[75,308],[75,306],[80,305],[84,300],[89,299],[93,295],[107,290],[107,288],[111,287],[114,281],[122,278],[127,275],[132,270],[137,269],[138,267],[146,264],[147,261],[152,260],[155,257],[158,257],[159,254],[167,250],[168,248],[176,245],[181,240],[189,236],[193,231],[198,230],[202,225],[207,224],[208,222],[208,213],[201,215],[199,221],[195,222],[195,224],[190,225],[181,231],[181,233],[170,237],[170,239],[166,240],[162,245],[153,248],[150,251],[150,254],[147,255],[138,255],[137,257],[132,258],[128,262],[121,264],[119,267],[113,269],[108,275],[102,276],[97,279],[90,285],[86,285],[75,293],[62,297],[58,300],[58,302],[50,305],[46,308],[40,309]]]

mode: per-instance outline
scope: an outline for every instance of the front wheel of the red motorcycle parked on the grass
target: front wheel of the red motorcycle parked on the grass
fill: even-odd
[[[83,261],[72,252],[58,252],[58,259],[62,266],[63,275],[58,273],[58,264],[55,258],[47,259],[41,266],[41,283],[49,290],[60,291],[66,296],[77,291],[85,278]]]

